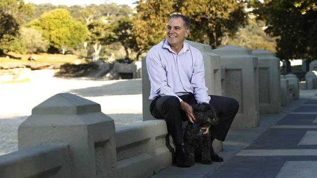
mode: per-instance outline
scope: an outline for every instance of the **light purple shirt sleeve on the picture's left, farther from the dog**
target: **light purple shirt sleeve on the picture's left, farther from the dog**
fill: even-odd
[[[167,84],[166,71],[162,66],[160,56],[157,51],[150,50],[146,56],[146,68],[149,74],[151,90],[160,96],[176,96],[181,102],[182,100],[173,92]],[[153,98],[149,98],[153,99]]]

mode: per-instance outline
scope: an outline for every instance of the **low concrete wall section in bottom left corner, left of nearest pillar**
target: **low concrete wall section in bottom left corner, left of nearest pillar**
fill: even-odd
[[[1,178],[71,178],[68,145],[42,144],[0,156]]]

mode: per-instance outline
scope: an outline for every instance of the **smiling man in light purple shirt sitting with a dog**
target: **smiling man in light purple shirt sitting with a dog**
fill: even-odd
[[[201,128],[203,134],[210,132],[212,141],[215,138],[224,141],[239,107],[233,98],[207,94],[202,55],[184,42],[189,33],[190,20],[180,14],[172,15],[166,28],[166,39],[151,48],[146,57],[151,82],[150,111],[155,118],[165,119],[176,144],[178,167],[190,167],[183,144],[182,121],[195,123],[191,104],[206,102],[218,111],[219,124]],[[211,159],[223,161],[213,149]]]

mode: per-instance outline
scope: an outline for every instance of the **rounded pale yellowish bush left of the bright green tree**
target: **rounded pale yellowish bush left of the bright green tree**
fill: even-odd
[[[48,42],[42,39],[40,31],[31,28],[22,28],[20,34],[20,40],[25,45],[27,53],[46,52]]]

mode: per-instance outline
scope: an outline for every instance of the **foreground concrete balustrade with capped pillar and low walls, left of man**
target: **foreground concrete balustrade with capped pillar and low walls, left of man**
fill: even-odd
[[[19,150],[0,156],[1,177],[146,178],[172,164],[174,145],[164,120],[115,129],[99,104],[59,93],[20,125]]]

